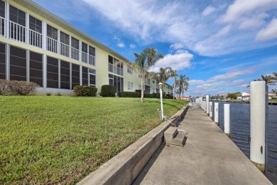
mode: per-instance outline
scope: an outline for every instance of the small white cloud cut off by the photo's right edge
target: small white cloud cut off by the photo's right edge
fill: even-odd
[[[277,38],[277,18],[273,18],[271,23],[256,35],[256,41],[266,41],[273,38]]]

